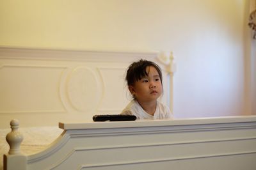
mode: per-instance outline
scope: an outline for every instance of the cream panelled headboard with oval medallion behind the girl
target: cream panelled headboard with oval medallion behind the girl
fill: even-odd
[[[118,114],[131,100],[125,70],[140,58],[161,66],[161,101],[172,107],[170,74],[157,56],[154,52],[0,47],[0,128],[8,128],[13,118],[30,127],[91,121],[93,114]]]

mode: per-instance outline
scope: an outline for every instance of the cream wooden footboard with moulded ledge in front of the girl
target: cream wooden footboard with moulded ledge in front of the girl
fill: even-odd
[[[256,169],[256,116],[59,126],[45,151],[12,145],[4,169]]]

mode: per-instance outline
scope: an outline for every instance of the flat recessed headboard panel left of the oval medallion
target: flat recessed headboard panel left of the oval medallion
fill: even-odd
[[[1,66],[0,113],[66,112],[59,91],[63,70],[51,65]]]

